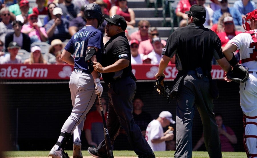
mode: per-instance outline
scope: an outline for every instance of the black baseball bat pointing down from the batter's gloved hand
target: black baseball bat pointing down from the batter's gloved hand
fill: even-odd
[[[103,119],[103,127],[104,127],[104,134],[105,134],[105,146],[106,146],[106,149],[107,149],[107,156],[108,156],[108,158],[114,158],[113,157],[113,149],[112,149],[111,139],[110,139],[109,132],[108,132],[108,129],[107,129],[107,125],[106,125],[106,122],[105,122],[105,115],[103,113],[103,105],[102,105],[100,94],[97,94],[97,96],[98,96],[98,100],[99,100],[99,104],[100,104],[100,110],[101,110],[102,119]]]

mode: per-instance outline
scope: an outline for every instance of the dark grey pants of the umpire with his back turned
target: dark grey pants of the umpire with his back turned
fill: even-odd
[[[192,124],[197,107],[203,125],[204,143],[210,158],[221,158],[218,127],[213,113],[213,97],[207,76],[198,78],[196,73],[188,73],[176,97],[176,151],[175,158],[192,157]]]

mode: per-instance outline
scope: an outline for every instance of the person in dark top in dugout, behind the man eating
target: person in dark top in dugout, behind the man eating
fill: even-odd
[[[133,117],[134,122],[140,127],[143,137],[145,137],[145,131],[148,124],[152,121],[152,116],[143,111],[142,107],[144,103],[141,98],[136,97],[133,100]]]

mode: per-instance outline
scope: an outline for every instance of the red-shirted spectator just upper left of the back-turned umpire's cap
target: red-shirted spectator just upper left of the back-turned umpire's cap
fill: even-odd
[[[185,12],[189,11],[190,7],[194,4],[197,4],[196,0],[180,0],[175,11],[176,16],[187,20],[188,16]]]

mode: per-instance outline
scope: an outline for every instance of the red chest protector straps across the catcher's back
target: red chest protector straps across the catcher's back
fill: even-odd
[[[245,33],[250,33],[251,36],[252,36],[252,39],[254,41],[253,43],[250,43],[250,47],[249,48],[254,48],[254,47],[255,48],[252,51],[253,53],[250,54],[250,58],[246,58],[246,59],[240,60],[239,61],[240,64],[248,62],[248,61],[254,61],[254,60],[257,61],[257,38],[256,38],[257,33],[254,33],[253,30],[247,31]]]

